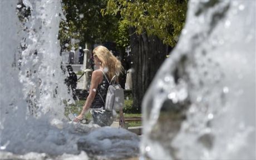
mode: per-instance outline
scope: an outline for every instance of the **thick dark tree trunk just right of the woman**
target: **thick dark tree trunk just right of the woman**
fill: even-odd
[[[134,69],[132,73],[133,107],[141,112],[144,94],[171,48],[163,44],[156,36],[148,37],[146,33],[137,35],[134,31],[134,28],[129,31],[132,68]]]

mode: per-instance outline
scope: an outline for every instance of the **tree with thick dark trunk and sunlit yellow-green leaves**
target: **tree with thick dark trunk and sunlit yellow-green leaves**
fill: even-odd
[[[157,69],[178,41],[186,9],[186,0],[109,0],[101,9],[102,15],[120,14],[121,23],[131,27],[133,105],[138,111]]]

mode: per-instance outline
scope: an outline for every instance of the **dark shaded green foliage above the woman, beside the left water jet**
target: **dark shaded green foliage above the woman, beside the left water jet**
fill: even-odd
[[[62,10],[66,19],[60,24],[59,38],[63,49],[78,48],[88,43],[101,43],[115,41],[118,31],[115,16],[102,16],[101,8],[106,7],[106,0],[63,0]],[[76,46],[64,46],[70,44],[71,39],[79,39]]]

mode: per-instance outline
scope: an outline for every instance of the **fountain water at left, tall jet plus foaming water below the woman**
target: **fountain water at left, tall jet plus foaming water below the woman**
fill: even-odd
[[[0,7],[0,157],[124,158],[131,152],[136,156],[135,134],[67,122],[64,116],[63,101],[72,103],[72,98],[64,84],[57,40],[61,1],[0,1]],[[26,10],[28,17],[18,19],[16,9]]]

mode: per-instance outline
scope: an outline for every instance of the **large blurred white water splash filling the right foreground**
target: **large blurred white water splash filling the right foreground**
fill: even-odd
[[[190,1],[144,98],[152,159],[255,159],[255,1]]]

